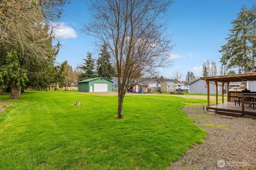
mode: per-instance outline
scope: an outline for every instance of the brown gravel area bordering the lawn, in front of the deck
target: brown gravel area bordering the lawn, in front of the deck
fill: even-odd
[[[228,119],[205,113],[202,106],[186,106],[183,111],[208,136],[205,144],[173,162],[171,170],[256,170],[256,119]]]

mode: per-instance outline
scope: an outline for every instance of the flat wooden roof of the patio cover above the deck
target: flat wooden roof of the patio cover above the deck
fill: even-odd
[[[244,74],[229,74],[224,76],[210,76],[200,77],[206,81],[217,81],[217,82],[241,82],[241,81],[254,81],[256,80],[256,72],[244,73]]]

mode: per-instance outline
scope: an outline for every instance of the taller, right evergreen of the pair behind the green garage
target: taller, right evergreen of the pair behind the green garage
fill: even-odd
[[[102,45],[102,49],[100,51],[100,57],[97,60],[97,74],[99,77],[110,79],[114,76],[115,70],[110,62],[111,56],[107,50],[107,45]]]

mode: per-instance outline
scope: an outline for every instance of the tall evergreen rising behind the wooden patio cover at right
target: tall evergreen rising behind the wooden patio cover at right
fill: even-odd
[[[220,62],[227,65],[227,68],[239,67],[239,73],[242,70],[244,73],[254,71],[255,15],[255,6],[250,10],[243,6],[237,14],[237,19],[231,22],[233,28],[230,29],[229,37],[226,38],[228,43],[220,50],[222,53]]]

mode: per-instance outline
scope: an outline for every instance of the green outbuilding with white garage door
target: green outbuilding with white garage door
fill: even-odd
[[[112,92],[112,81],[104,78],[89,78],[78,82],[78,92]]]

